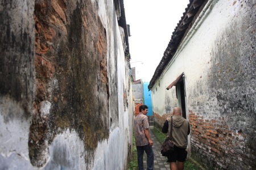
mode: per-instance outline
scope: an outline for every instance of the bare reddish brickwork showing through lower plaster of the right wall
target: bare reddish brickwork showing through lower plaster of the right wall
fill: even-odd
[[[224,117],[207,120],[197,113],[189,111],[189,123],[191,125],[191,145],[197,150],[203,151],[205,156],[212,155],[220,164],[224,160],[220,158],[232,155],[233,160],[240,161],[246,158],[241,156],[241,142],[246,136],[243,133],[230,130]],[[239,157],[240,156],[240,157]]]

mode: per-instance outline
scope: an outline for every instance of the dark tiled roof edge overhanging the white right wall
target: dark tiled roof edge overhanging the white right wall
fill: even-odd
[[[187,35],[187,32],[192,27],[197,16],[199,16],[201,10],[203,10],[203,7],[207,2],[208,0],[190,0],[189,1],[187,8],[185,8],[185,12],[183,12],[183,16],[181,16],[179,23],[177,23],[177,26],[174,29],[174,32],[172,32],[171,40],[168,43],[168,46],[163,53],[163,57],[159,62],[159,65],[156,67],[155,73],[150,80],[150,84],[148,85],[148,90],[151,90],[156,80],[159,78],[164,68],[167,66],[168,62],[171,61],[180,43],[183,41],[184,37]]]

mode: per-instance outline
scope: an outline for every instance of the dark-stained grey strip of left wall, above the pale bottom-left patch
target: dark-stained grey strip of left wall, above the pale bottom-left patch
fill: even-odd
[[[19,103],[24,109],[22,116],[29,120],[35,87],[34,24],[30,16],[30,8],[34,7],[34,3],[27,3],[23,19],[15,18],[20,15],[20,11],[16,10],[19,2],[12,4],[4,1],[0,5],[0,96]],[[20,116],[18,112],[13,114]]]

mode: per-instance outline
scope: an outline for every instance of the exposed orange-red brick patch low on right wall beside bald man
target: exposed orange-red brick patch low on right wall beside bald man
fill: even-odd
[[[192,154],[200,155],[201,160],[207,159],[212,164],[216,162],[224,169],[239,169],[238,164],[251,164],[250,155],[245,152],[246,135],[242,130],[230,130],[224,117],[205,120],[199,113],[189,111],[189,124]]]

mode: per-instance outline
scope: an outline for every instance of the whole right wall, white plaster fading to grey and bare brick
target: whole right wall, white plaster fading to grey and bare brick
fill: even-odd
[[[166,87],[184,72],[191,153],[208,169],[256,168],[255,4],[213,1],[152,89],[162,125],[178,106]]]

